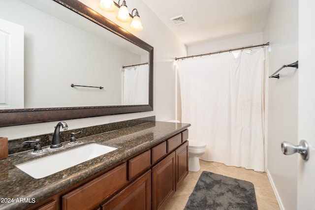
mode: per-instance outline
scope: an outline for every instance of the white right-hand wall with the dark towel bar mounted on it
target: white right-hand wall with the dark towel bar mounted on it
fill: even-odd
[[[285,6],[284,6],[285,5]],[[298,0],[273,0],[263,33],[270,42],[269,75],[298,60]],[[283,141],[298,143],[298,75],[294,68],[280,71],[269,82],[267,173],[281,209],[295,210],[297,157],[284,155]]]

